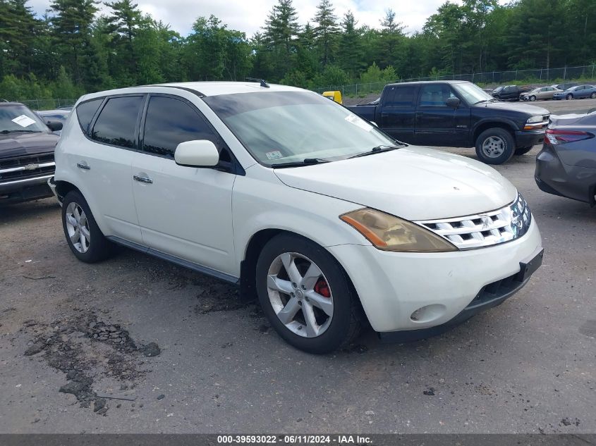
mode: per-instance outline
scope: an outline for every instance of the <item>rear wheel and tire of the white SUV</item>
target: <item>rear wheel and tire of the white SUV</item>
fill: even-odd
[[[68,247],[80,261],[93,264],[107,259],[114,253],[114,244],[104,237],[85,197],[78,190],[71,190],[64,197],[62,228]]]

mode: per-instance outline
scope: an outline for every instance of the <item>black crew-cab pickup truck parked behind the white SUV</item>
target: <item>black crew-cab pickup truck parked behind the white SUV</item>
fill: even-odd
[[[396,140],[410,144],[476,147],[488,164],[501,164],[542,143],[549,111],[499,102],[470,82],[389,84],[378,102],[348,106]]]

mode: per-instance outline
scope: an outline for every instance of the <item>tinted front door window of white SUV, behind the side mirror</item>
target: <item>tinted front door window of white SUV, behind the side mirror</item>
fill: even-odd
[[[217,135],[191,106],[171,97],[152,96],[145,118],[143,151],[174,158],[178,144],[193,140],[218,144]]]

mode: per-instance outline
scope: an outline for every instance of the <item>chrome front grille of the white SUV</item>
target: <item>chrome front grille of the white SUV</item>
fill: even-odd
[[[459,249],[474,249],[516,240],[528,232],[531,222],[530,208],[518,194],[513,203],[495,211],[415,223],[446,238]]]

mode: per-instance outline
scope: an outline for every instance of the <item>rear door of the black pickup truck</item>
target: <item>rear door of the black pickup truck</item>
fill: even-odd
[[[382,130],[396,140],[414,142],[415,98],[418,85],[387,85],[378,107],[381,116],[377,122]]]

